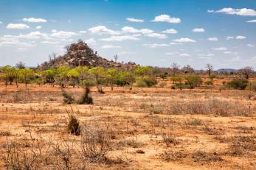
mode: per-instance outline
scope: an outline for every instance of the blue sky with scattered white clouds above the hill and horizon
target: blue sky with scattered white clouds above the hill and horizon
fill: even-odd
[[[256,1],[1,0],[0,65],[37,65],[82,39],[109,60],[256,69]]]

